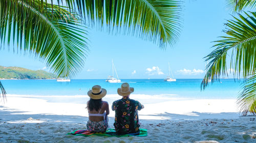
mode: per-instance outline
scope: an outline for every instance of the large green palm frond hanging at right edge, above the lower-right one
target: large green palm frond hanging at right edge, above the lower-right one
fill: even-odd
[[[227,70],[227,52],[232,49],[230,68],[233,69],[234,76],[247,78],[253,75],[256,70],[256,13],[251,15],[245,13],[246,17],[239,15],[234,20],[228,20],[225,33],[222,40],[215,41],[216,49],[205,58],[209,61],[207,72],[201,83],[201,88],[211,82],[219,80],[220,75],[228,74]]]

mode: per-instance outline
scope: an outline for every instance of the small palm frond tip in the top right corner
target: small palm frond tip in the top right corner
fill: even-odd
[[[226,0],[227,6],[234,12],[241,12],[243,9],[255,9],[255,0]]]

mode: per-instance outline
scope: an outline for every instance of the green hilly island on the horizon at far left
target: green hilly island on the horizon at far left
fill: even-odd
[[[0,79],[56,79],[56,75],[44,70],[0,66]]]

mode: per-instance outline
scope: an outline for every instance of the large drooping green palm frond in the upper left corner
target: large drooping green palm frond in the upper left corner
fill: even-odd
[[[60,77],[75,75],[88,52],[87,31],[66,9],[41,1],[1,0],[1,43],[17,43],[17,50],[35,53]]]

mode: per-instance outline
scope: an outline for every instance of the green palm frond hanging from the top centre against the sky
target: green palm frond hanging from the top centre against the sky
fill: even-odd
[[[108,25],[110,32],[124,28],[124,34],[157,42],[161,48],[173,46],[179,37],[180,0],[66,0],[89,23]]]

